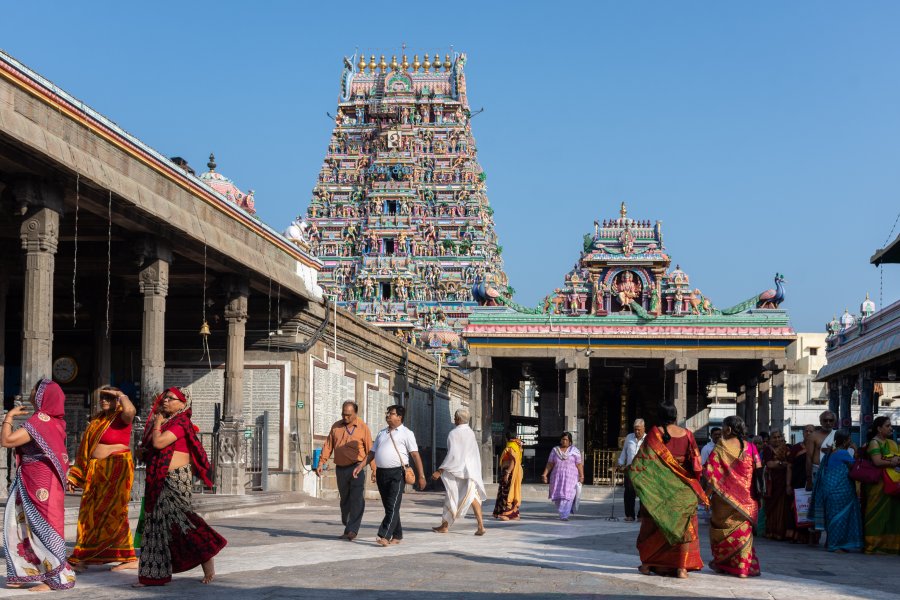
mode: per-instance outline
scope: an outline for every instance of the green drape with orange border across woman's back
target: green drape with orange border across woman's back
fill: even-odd
[[[692,446],[696,453],[696,443]],[[691,541],[691,518],[697,512],[697,503],[708,505],[709,500],[700,482],[666,447],[659,427],[647,432],[628,473],[641,506],[650,513],[666,541],[672,545]]]

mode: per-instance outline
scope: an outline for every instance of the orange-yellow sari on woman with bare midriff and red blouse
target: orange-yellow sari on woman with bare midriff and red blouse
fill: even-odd
[[[91,419],[81,438],[75,464],[69,469],[69,483],[83,490],[78,536],[69,557],[73,565],[137,560],[128,523],[128,503],[134,483],[131,451],[93,458],[100,438],[121,413],[119,406],[112,414],[103,413]]]

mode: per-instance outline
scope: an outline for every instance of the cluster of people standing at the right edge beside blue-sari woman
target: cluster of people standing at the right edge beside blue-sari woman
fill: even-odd
[[[763,442],[765,525],[760,533],[813,546],[824,533],[824,546],[832,552],[898,554],[900,450],[891,420],[876,417],[862,447],[836,423],[837,416],[825,411],[818,427],[803,428],[802,441],[789,445],[781,432],[772,432]],[[851,478],[860,467],[870,473],[868,480]],[[804,493],[810,494],[809,510],[801,514],[795,499]]]

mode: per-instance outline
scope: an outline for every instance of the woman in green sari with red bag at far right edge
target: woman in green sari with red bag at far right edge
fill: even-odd
[[[877,417],[870,430],[866,454],[876,467],[883,469],[882,480],[864,484],[864,531],[866,554],[900,553],[900,497],[891,495],[891,488],[900,485],[900,451],[892,439],[890,417]]]

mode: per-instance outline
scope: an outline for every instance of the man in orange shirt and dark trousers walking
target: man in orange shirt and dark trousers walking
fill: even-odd
[[[344,402],[341,407],[341,420],[331,426],[316,469],[316,473],[321,477],[322,467],[334,452],[334,471],[338,493],[341,496],[341,522],[344,524],[341,539],[351,542],[359,533],[362,515],[366,510],[366,480],[364,477],[353,477],[353,469],[366,459],[372,449],[372,432],[357,416],[358,410],[356,402]],[[373,464],[373,477],[374,468]]]

